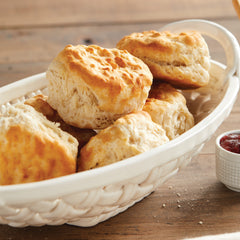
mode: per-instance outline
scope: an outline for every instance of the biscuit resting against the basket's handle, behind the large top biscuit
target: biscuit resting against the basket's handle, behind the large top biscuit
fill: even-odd
[[[142,59],[154,79],[164,79],[177,88],[198,88],[209,82],[209,49],[196,31],[132,33],[121,39],[117,48]]]

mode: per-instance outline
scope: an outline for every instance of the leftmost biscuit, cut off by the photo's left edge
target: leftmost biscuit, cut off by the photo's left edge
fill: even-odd
[[[28,105],[2,110],[0,142],[0,185],[76,172],[77,140]]]

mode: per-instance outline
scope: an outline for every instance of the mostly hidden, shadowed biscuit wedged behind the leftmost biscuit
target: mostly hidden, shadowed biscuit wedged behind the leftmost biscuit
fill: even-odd
[[[48,97],[42,94],[36,95],[27,99],[24,103],[32,106],[36,111],[42,113],[48,120],[58,122],[59,127],[71,134],[78,140],[78,151],[89,141],[89,139],[96,135],[92,129],[81,129],[65,123],[57,111],[55,111],[47,102]]]

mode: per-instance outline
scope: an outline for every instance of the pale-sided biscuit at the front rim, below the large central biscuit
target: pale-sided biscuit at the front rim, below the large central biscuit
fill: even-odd
[[[78,171],[121,161],[168,141],[165,130],[147,112],[131,113],[91,138],[81,149]]]

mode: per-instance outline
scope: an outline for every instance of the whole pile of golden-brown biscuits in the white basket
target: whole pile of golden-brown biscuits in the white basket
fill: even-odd
[[[175,139],[194,125],[181,89],[206,86],[209,68],[194,31],[132,33],[113,49],[67,45],[46,72],[48,96],[0,113],[0,185],[102,167]]]

